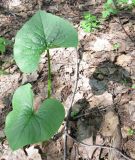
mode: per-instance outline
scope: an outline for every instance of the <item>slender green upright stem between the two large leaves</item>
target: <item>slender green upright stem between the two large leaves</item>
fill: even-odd
[[[52,90],[52,82],[51,82],[51,63],[50,63],[49,49],[47,49],[47,58],[48,58],[48,98],[50,98]]]

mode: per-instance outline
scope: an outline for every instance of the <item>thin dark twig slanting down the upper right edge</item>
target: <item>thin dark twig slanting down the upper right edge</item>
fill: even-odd
[[[113,4],[114,4],[114,7],[115,7],[117,10],[119,10],[116,1],[115,1],[115,0],[112,0],[112,1],[113,1]],[[131,40],[131,42],[132,42],[132,43],[134,44],[134,46],[135,46],[135,41],[134,41],[134,39],[132,39],[132,37],[127,33],[127,31],[126,31],[125,28],[123,27],[123,24],[122,24],[122,21],[121,21],[121,19],[120,19],[119,14],[118,14],[118,18],[119,18],[119,23],[120,23],[120,25],[121,25],[121,28],[123,29],[123,31],[125,32],[125,34],[129,37],[129,39]]]

